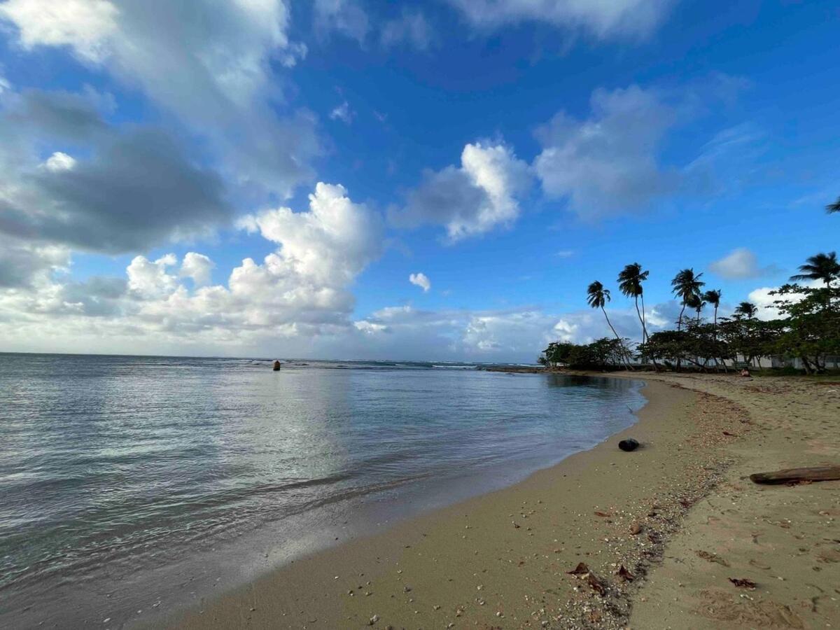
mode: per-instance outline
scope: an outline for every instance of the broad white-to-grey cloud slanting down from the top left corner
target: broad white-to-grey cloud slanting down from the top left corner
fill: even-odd
[[[144,92],[206,139],[239,184],[288,197],[312,179],[314,117],[276,113],[282,81],[271,62],[292,66],[306,54],[288,38],[281,0],[10,0],[2,19],[24,50],[66,47]]]

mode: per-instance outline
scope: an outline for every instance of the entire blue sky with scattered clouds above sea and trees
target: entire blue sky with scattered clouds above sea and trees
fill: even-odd
[[[532,363],[837,249],[840,7],[0,0],[0,351]],[[706,317],[712,313],[707,309]]]

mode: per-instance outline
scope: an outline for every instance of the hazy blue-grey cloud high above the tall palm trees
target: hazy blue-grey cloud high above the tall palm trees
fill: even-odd
[[[591,117],[560,112],[537,131],[534,169],[548,197],[567,198],[580,216],[647,207],[675,192],[680,175],[659,164],[659,144],[675,112],[656,92],[631,86],[596,90]]]

